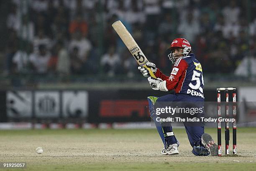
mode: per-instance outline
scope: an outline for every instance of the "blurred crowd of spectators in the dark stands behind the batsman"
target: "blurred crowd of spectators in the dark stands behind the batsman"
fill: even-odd
[[[134,77],[137,63],[112,28],[121,20],[169,74],[166,49],[184,37],[204,73],[234,73],[256,57],[253,0],[12,0],[5,74]]]

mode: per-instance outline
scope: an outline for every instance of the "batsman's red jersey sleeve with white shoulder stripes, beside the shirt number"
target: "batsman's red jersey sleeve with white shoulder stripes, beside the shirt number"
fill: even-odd
[[[184,59],[178,59],[172,68],[170,77],[166,79],[166,88],[168,90],[175,89],[179,82],[183,82],[188,64]]]

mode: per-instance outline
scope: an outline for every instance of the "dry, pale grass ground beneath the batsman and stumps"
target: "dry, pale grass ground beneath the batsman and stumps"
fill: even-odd
[[[216,129],[205,132],[216,141]],[[239,128],[238,156],[222,157],[194,156],[184,129],[174,128],[174,133],[180,154],[162,156],[163,145],[156,129],[0,131],[0,162],[27,162],[25,170],[29,171],[256,170],[256,128]],[[43,154],[36,154],[38,146],[43,147]]]

